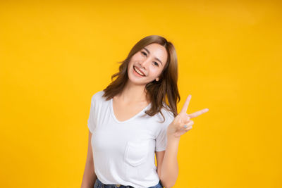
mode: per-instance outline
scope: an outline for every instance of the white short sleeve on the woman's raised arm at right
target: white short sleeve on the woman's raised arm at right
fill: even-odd
[[[173,121],[174,116],[172,113],[165,113],[165,114],[164,114],[164,117],[166,118],[166,120],[164,121],[164,123],[161,123],[159,132],[156,137],[155,151],[166,150],[166,143],[167,143],[166,130],[167,130],[168,125],[170,125],[171,122]]]

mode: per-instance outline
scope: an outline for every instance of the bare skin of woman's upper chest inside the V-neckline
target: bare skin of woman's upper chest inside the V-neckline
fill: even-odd
[[[140,113],[140,111],[142,111],[148,104],[149,102],[147,101],[125,104],[118,99],[118,96],[114,96],[113,98],[114,115],[116,116],[116,119],[118,119],[119,121],[125,121],[132,118],[137,113]]]

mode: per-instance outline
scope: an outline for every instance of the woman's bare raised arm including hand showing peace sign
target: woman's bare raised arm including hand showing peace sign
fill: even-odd
[[[176,183],[178,177],[178,144],[180,141],[180,136],[183,135],[188,130],[192,129],[194,122],[190,118],[195,118],[202,113],[209,111],[208,108],[204,108],[201,111],[195,113],[187,114],[186,111],[189,106],[191,95],[189,95],[181,109],[180,113],[176,115],[176,118],[173,119],[172,123],[168,125],[166,131],[167,144],[166,151],[164,153],[164,159],[161,163],[161,183],[164,187],[173,187]]]

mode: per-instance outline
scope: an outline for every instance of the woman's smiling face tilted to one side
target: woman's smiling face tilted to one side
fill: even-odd
[[[156,79],[158,81],[167,57],[164,46],[157,43],[145,46],[128,63],[128,81],[135,84],[147,84]]]

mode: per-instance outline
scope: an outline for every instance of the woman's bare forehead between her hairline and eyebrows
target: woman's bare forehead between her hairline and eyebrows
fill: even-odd
[[[164,46],[161,46],[161,44],[153,43],[145,46],[145,48],[149,50],[149,56],[154,56],[156,58],[159,58],[159,60],[161,60],[163,65],[165,65],[167,52]]]

